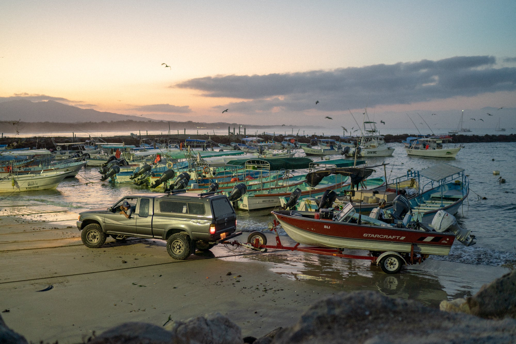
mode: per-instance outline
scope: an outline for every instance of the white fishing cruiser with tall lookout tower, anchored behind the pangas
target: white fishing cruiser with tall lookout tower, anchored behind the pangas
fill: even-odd
[[[369,156],[392,156],[394,148],[391,148],[385,143],[383,136],[380,135],[376,128],[376,122],[364,122],[363,134],[360,137],[358,147],[344,147],[343,155],[354,157],[357,152],[357,157],[365,158]],[[369,125],[369,128],[366,126]]]

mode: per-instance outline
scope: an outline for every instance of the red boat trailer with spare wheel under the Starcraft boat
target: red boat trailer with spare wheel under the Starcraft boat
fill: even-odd
[[[411,245],[410,253],[398,253],[394,251],[386,251],[386,252],[377,252],[377,251],[369,251],[370,255],[353,255],[353,254],[345,254],[343,253],[346,249],[340,248],[327,248],[327,247],[317,247],[317,246],[300,246],[300,243],[297,242],[294,246],[285,246],[281,243],[280,236],[278,234],[278,227],[280,226],[279,221],[276,219],[273,222],[269,222],[269,230],[275,233],[276,235],[276,245],[267,245],[267,237],[262,232],[252,232],[249,234],[247,238],[247,243],[241,243],[237,240],[234,241],[223,241],[221,243],[232,245],[232,246],[242,246],[254,251],[267,252],[267,249],[277,249],[277,250],[288,250],[288,251],[298,251],[298,252],[307,252],[307,253],[315,253],[321,254],[325,256],[334,256],[339,258],[350,258],[350,259],[364,259],[370,260],[372,264],[379,265],[383,272],[385,273],[397,273],[401,270],[403,265],[409,264],[421,264],[423,261],[428,258],[427,254],[417,254],[414,253],[414,245]]]

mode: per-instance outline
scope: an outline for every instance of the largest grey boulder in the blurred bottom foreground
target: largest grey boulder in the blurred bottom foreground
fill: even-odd
[[[373,291],[320,300],[272,343],[513,343],[516,320],[499,321],[441,312]]]

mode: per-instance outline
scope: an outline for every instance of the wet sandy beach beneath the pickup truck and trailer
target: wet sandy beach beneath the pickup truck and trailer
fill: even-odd
[[[376,290],[438,307],[509,271],[427,259],[388,275],[365,260],[224,245],[178,261],[162,240],[108,239],[89,249],[80,241],[77,214],[66,208],[7,207],[2,215],[0,308],[9,309],[2,317],[33,342],[76,343],[127,321],[163,325],[169,316],[211,312],[228,316],[244,336],[260,337],[294,324],[319,298],[339,291]]]

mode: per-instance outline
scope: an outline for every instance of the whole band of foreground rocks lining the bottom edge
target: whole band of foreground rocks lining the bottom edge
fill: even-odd
[[[467,298],[479,316],[447,312],[374,291],[341,292],[319,300],[298,322],[261,338],[243,337],[240,327],[218,313],[163,326],[128,322],[88,339],[90,344],[308,344],[308,343],[514,343],[516,270]],[[442,308],[442,306],[441,306]],[[490,318],[490,319],[486,319]],[[493,318],[493,319],[491,319]],[[170,317],[169,317],[170,319]],[[0,318],[0,342],[26,344]]]

